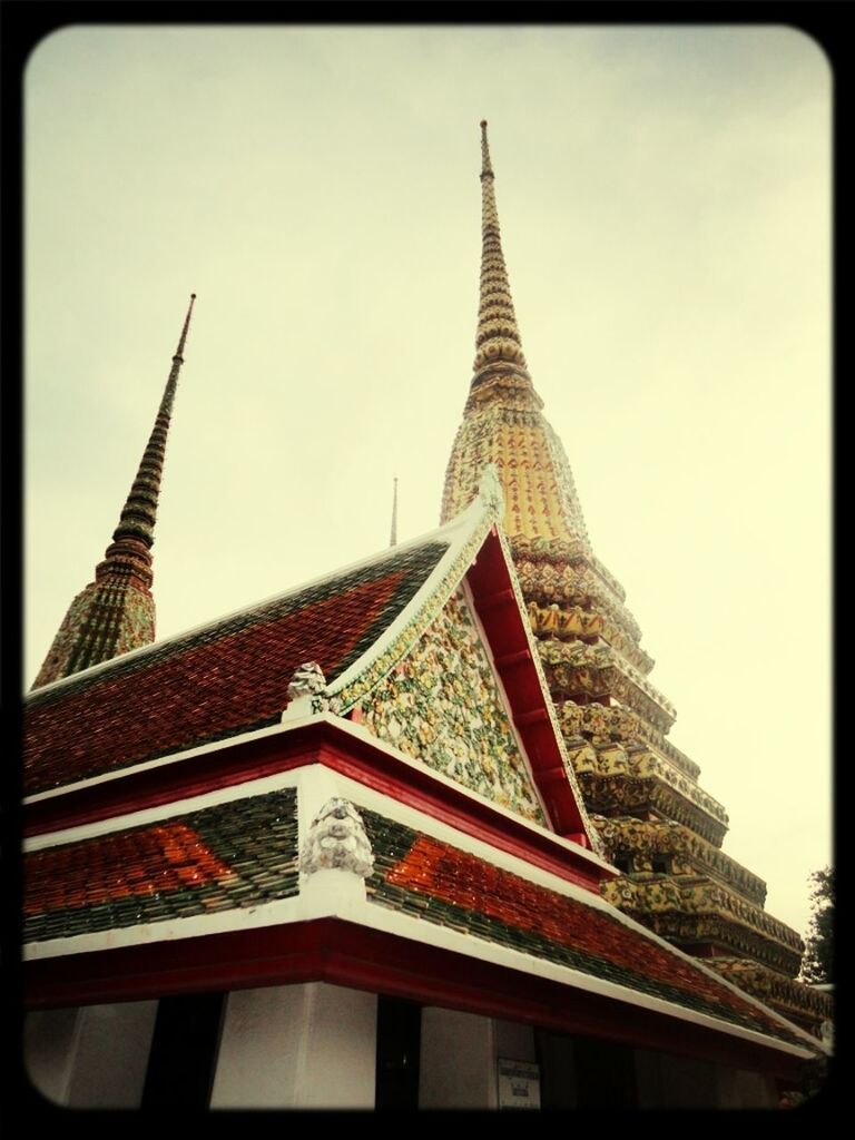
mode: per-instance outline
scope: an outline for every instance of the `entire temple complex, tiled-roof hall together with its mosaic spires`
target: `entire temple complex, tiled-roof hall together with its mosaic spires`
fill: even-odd
[[[393,516],[386,549],[158,642],[187,314],[114,544],[25,706],[25,1060],[59,1105],[775,1107],[823,1056],[799,939],[722,853],[591,549],[486,124],[482,157],[441,524],[398,544]]]

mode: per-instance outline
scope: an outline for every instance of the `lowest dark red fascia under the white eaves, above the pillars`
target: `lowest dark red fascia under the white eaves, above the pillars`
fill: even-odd
[[[325,982],[781,1078],[804,1064],[772,1045],[342,919],[42,959],[23,972],[33,1010]]]

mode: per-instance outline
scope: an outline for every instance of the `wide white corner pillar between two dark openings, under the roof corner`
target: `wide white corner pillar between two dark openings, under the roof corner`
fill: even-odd
[[[324,983],[228,995],[211,1108],[374,1108],[377,999]]]

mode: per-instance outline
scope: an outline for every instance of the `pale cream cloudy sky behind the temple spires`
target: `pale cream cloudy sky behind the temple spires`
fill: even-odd
[[[92,579],[198,294],[158,636],[437,526],[479,120],[594,548],[804,934],[831,858],[830,72],[788,27],[71,27],[25,88],[25,681]]]

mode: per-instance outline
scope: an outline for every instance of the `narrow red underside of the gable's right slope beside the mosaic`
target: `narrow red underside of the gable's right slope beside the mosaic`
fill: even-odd
[[[576,795],[564,772],[546,694],[529,658],[527,619],[520,612],[495,528],[484,538],[466,579],[552,824],[560,836],[572,836],[577,842],[584,840],[589,846]]]

